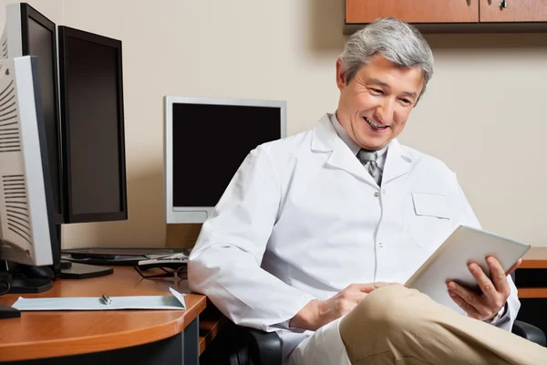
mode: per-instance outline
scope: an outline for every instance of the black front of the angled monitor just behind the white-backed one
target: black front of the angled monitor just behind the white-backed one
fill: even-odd
[[[25,9],[23,27],[23,55],[36,56],[38,60],[38,78],[46,125],[46,143],[51,172],[56,223],[63,223],[63,205],[61,201],[61,161],[60,161],[60,124],[57,109],[57,47],[55,24],[30,8]],[[24,14],[25,14],[24,13]],[[25,26],[26,20],[26,26]]]

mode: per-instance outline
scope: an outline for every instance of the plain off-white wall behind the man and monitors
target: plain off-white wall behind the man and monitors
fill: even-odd
[[[123,41],[129,220],[64,225],[65,247],[165,245],[163,96],[284,99],[289,134],[335,110],[341,1],[29,3],[57,25]],[[400,140],[458,173],[484,228],[547,245],[547,35],[427,38],[435,76]],[[176,229],[174,241],[199,226]]]

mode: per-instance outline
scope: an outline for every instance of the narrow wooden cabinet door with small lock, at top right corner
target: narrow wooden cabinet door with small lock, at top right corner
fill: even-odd
[[[545,0],[480,0],[480,22],[547,21]]]

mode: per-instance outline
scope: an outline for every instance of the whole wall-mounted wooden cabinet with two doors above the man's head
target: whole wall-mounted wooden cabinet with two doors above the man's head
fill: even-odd
[[[344,0],[344,33],[393,16],[424,33],[547,32],[547,0]]]

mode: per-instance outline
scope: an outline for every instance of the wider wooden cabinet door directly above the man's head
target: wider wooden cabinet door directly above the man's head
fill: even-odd
[[[408,23],[478,23],[478,1],[346,0],[346,24],[370,23],[384,16],[394,16]]]

